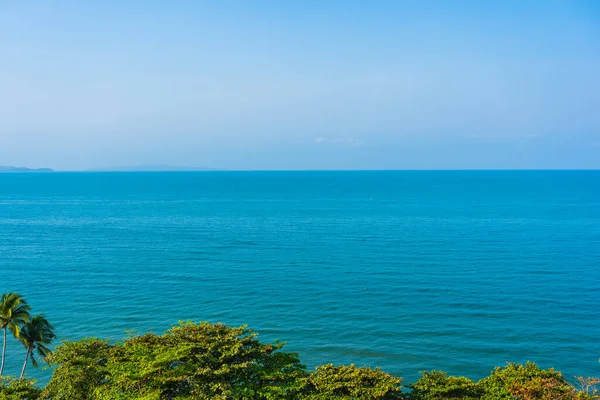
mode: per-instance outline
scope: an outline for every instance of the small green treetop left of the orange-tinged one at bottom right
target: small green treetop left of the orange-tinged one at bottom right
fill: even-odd
[[[411,400],[470,400],[480,399],[480,386],[464,376],[448,376],[442,371],[421,372],[422,377],[410,386]]]

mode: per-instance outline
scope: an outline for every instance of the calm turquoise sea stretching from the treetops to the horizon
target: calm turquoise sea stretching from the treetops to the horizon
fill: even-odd
[[[600,171],[0,174],[6,291],[61,340],[207,320],[407,382],[599,375]]]

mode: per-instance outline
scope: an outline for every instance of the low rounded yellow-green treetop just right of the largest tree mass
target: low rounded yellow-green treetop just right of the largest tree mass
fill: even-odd
[[[396,378],[378,368],[334,366],[327,364],[305,378],[306,386],[301,398],[325,399],[400,399],[400,383]]]

